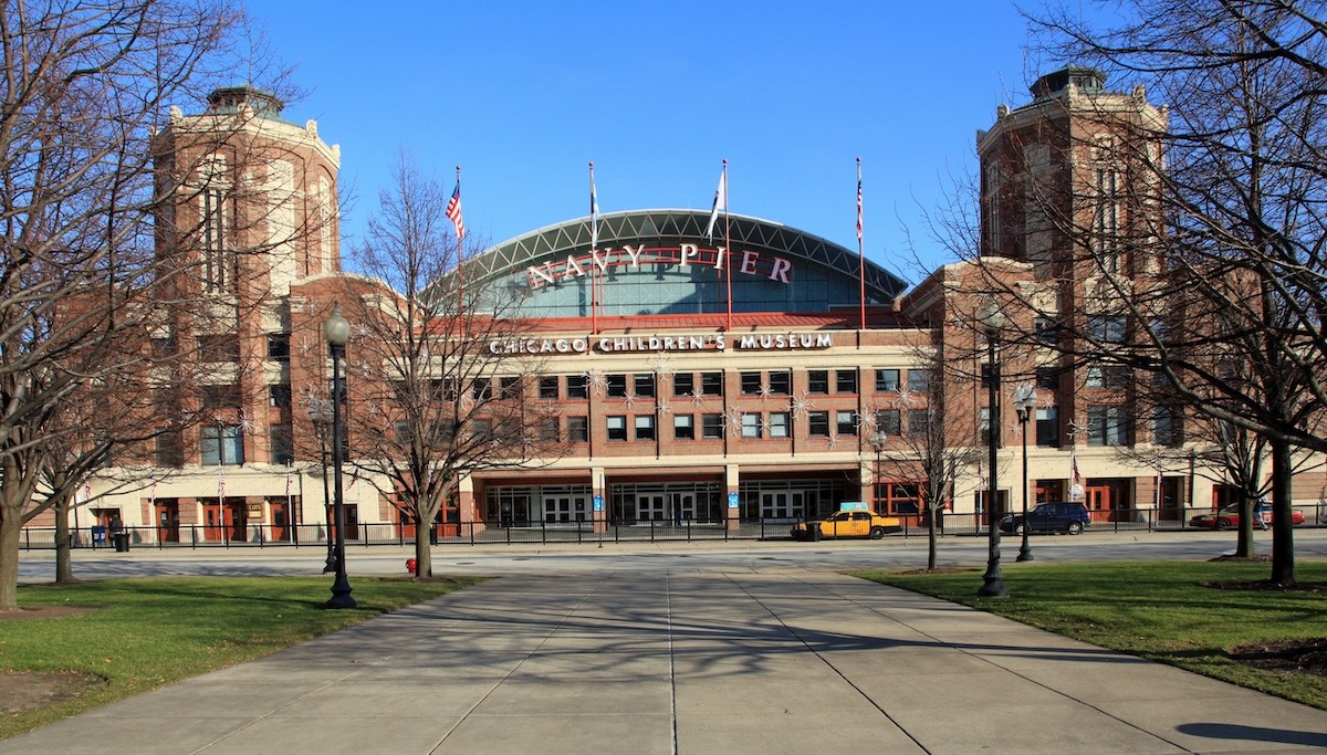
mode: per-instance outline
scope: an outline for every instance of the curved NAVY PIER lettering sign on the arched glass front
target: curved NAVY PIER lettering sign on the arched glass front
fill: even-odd
[[[525,268],[525,280],[531,288],[556,284],[563,280],[577,279],[598,269],[601,273],[609,268],[640,268],[641,265],[677,265],[686,269],[691,265],[711,267],[722,271],[725,260],[731,267],[730,272],[739,272],[750,276],[760,276],[776,283],[787,284],[792,276],[792,263],[771,255],[762,255],[752,249],[742,249],[731,255],[726,253],[727,247],[705,249],[699,244],[682,244],[679,247],[646,247],[645,244],[622,244],[621,249],[591,249],[581,255],[567,255],[561,260],[548,260],[541,265]]]

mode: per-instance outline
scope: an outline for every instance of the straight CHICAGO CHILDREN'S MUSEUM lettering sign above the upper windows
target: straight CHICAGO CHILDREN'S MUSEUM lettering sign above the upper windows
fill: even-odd
[[[494,338],[492,354],[624,354],[654,352],[788,352],[833,348],[831,333],[747,333],[730,336],[593,336],[572,338]]]

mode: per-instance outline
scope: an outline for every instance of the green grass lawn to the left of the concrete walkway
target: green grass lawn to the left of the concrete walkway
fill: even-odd
[[[0,620],[0,673],[77,671],[104,681],[40,710],[0,715],[0,739],[176,679],[232,666],[482,581],[357,577],[358,608],[328,610],[329,577],[154,577],[21,585],[19,605],[97,606]]]

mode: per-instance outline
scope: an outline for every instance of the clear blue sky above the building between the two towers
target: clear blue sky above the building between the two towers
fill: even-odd
[[[1040,66],[1013,4],[251,0],[308,97],[285,115],[341,146],[354,244],[405,150],[498,243],[588,214],[730,210],[856,249],[902,277],[949,261],[924,212],[973,171],[977,129]],[[1116,82],[1117,84],[1117,82]]]

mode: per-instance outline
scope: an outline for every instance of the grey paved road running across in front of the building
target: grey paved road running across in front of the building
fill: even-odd
[[[1259,552],[1271,551],[1269,533],[1255,533]],[[1137,559],[1213,559],[1233,552],[1231,532],[1121,532],[1078,537],[1031,539],[1036,561],[1108,561]],[[1327,529],[1295,533],[1298,557],[1327,559]],[[352,547],[346,563],[354,575],[403,575],[413,548]],[[1003,559],[1013,563],[1018,540],[1006,537]],[[76,551],[76,573],[82,579],[151,575],[316,575],[324,553],[316,548],[165,549],[138,548],[129,553]],[[857,568],[921,568],[926,565],[924,537],[889,537],[881,541],[697,541],[553,545],[441,545],[433,549],[434,573],[541,575],[585,571],[654,572],[675,569],[746,568],[754,571],[796,567],[844,571]],[[985,537],[945,537],[940,543],[943,567],[986,563]],[[19,579],[50,581],[54,557],[50,551],[21,555]]]

